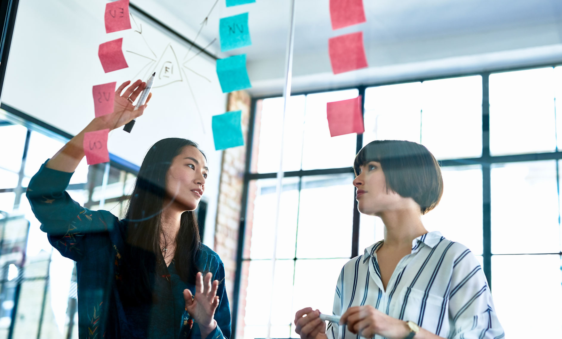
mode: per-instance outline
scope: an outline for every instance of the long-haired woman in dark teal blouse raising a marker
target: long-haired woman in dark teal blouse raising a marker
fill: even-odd
[[[47,160],[26,193],[51,245],[76,261],[79,337],[229,339],[224,265],[200,242],[193,212],[209,171],[196,143],[167,138],[148,150],[122,220],[66,192],[84,133],[119,128],[146,109],[133,106],[146,84],[129,84],[117,88],[114,112]]]

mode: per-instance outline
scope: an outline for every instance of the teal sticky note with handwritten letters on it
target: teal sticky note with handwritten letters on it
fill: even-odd
[[[219,23],[220,51],[250,46],[250,29],[248,28],[248,13],[223,17]]]

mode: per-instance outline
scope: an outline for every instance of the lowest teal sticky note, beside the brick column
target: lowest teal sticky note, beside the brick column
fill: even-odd
[[[215,150],[242,146],[242,111],[226,112],[212,117],[212,136]]]

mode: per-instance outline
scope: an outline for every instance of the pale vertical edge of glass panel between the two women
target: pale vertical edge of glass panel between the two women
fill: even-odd
[[[275,261],[277,257],[277,233],[279,230],[279,208],[281,204],[281,193],[283,191],[283,141],[285,137],[285,115],[287,114],[287,104],[291,97],[291,83],[293,75],[293,42],[294,42],[294,6],[295,0],[291,0],[291,23],[289,26],[289,36],[287,37],[287,54],[285,56],[285,86],[283,87],[283,120],[281,123],[281,147],[279,155],[279,171],[277,172],[277,209],[275,211],[275,229],[273,237],[273,255],[271,255],[271,296],[269,298],[269,317],[268,317],[268,335],[271,338],[271,310],[273,309],[273,287],[275,278]]]

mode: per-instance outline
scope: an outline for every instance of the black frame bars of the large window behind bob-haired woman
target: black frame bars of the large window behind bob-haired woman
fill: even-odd
[[[365,115],[365,90],[370,87],[379,87],[384,85],[394,85],[412,82],[425,82],[429,80],[441,80],[450,78],[460,78],[463,76],[482,76],[482,155],[480,157],[473,158],[463,158],[463,159],[448,159],[439,161],[441,167],[448,166],[466,166],[466,165],[481,165],[482,167],[482,224],[483,224],[483,272],[486,275],[488,285],[490,290],[492,289],[492,243],[491,243],[491,168],[493,164],[506,163],[506,162],[528,162],[528,161],[539,161],[539,160],[555,160],[556,161],[556,186],[558,188],[558,197],[560,199],[560,175],[559,175],[559,161],[562,159],[562,152],[558,149],[558,144],[556,145],[554,152],[545,153],[525,153],[516,155],[504,155],[504,156],[492,156],[490,155],[490,75],[495,73],[505,73],[509,71],[523,71],[531,69],[539,69],[546,67],[558,67],[562,66],[562,63],[548,63],[548,64],[534,64],[526,65],[520,67],[507,67],[507,68],[497,68],[490,69],[481,72],[469,72],[469,73],[459,73],[459,74],[446,74],[441,76],[434,76],[428,78],[410,78],[410,79],[400,79],[393,82],[378,82],[371,83],[368,85],[357,85],[357,86],[347,86],[347,87],[330,87],[323,89],[315,89],[314,91],[303,91],[291,93],[291,96],[298,95],[308,95],[314,93],[332,92],[332,91],[343,91],[346,89],[357,89],[359,90],[359,95],[362,97],[361,111]],[[241,288],[241,278],[242,278],[242,265],[244,261],[249,259],[243,258],[244,252],[244,237],[246,236],[246,222],[245,217],[247,213],[248,205],[248,189],[250,188],[251,180],[266,179],[266,178],[277,178],[277,173],[251,173],[252,164],[252,148],[253,141],[256,137],[254,135],[254,126],[256,123],[256,103],[259,100],[264,100],[267,98],[282,97],[282,95],[269,95],[269,96],[259,96],[253,97],[250,107],[250,126],[248,128],[247,134],[247,144],[246,144],[246,166],[244,170],[244,183],[242,191],[242,208],[240,213],[239,229],[238,229],[238,248],[237,248],[237,259],[236,259],[236,271],[234,279],[234,290],[233,290],[233,309],[232,309],[232,333],[237,331],[238,324],[238,313],[239,313],[239,296]],[[555,111],[556,119],[556,111]],[[557,135],[558,138],[558,135]],[[357,134],[357,143],[355,152],[359,152],[363,146],[363,135]],[[322,175],[322,174],[341,174],[341,173],[353,173],[352,166],[348,168],[333,168],[333,169],[315,169],[315,170],[298,170],[298,171],[285,171],[283,177],[302,177],[309,175]],[[355,193],[353,197],[353,230],[352,230],[352,251],[350,259],[359,255],[359,218],[360,213],[357,210],[357,201],[355,200]],[[560,227],[560,211],[558,216],[558,222]],[[541,253],[533,255],[559,255],[562,257],[562,250],[558,253]],[[518,254],[495,254],[495,255],[518,255]],[[294,258],[296,260],[297,258]]]

